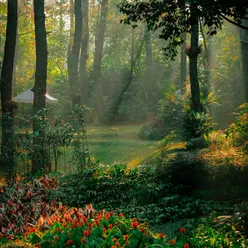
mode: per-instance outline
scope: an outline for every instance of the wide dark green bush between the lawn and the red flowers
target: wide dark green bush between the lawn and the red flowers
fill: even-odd
[[[172,188],[169,180],[157,180],[153,167],[127,169],[124,165],[114,164],[85,169],[80,174],[62,179],[52,199],[63,201],[69,206],[93,203],[106,208],[123,202],[154,203],[170,192]]]

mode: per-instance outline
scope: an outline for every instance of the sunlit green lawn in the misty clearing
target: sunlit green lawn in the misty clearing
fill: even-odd
[[[150,156],[157,143],[141,140],[140,126],[88,126],[86,129],[90,152],[103,164],[120,162],[133,167]]]

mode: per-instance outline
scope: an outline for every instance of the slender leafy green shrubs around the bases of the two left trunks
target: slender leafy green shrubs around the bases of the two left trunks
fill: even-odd
[[[84,116],[89,111],[84,106],[77,106],[71,115],[70,122],[65,122],[62,115],[54,115],[52,109],[43,109],[35,116],[18,119],[21,122],[14,135],[14,156],[16,170],[27,176],[31,172],[31,161],[40,156],[45,161],[45,172],[60,170],[61,156],[69,153],[70,164],[78,171],[91,162]],[[30,131],[32,121],[36,120],[38,131]],[[34,137],[43,137],[42,142],[34,145]],[[68,152],[68,150],[70,152]],[[52,166],[53,165],[53,166]],[[40,172],[42,173],[42,172]]]

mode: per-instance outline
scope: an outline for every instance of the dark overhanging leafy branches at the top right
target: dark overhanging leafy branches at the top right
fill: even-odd
[[[190,32],[197,20],[202,20],[211,35],[222,28],[224,20],[241,28],[242,19],[246,19],[248,1],[246,0],[151,0],[132,2],[124,0],[118,5],[126,16],[125,24],[136,27],[139,21],[146,22],[151,30],[160,30],[160,38],[168,42],[165,54],[175,57],[176,47],[184,41],[182,34]],[[192,15],[192,7],[194,15]]]

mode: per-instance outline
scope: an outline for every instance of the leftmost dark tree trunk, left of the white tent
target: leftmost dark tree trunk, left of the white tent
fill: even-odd
[[[9,167],[10,176],[14,166],[14,109],[17,107],[12,99],[12,79],[15,58],[18,10],[17,0],[8,0],[8,17],[3,66],[1,72],[1,106],[2,106],[2,158],[3,167]]]

